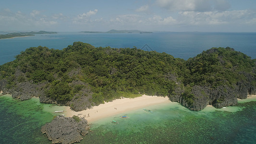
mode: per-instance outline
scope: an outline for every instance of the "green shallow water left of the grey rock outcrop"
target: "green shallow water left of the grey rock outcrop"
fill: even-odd
[[[40,130],[53,119],[55,109],[63,107],[41,104],[38,98],[21,101],[0,96],[0,144],[51,144]]]

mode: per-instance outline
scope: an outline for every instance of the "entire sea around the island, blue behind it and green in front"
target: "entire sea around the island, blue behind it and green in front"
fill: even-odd
[[[62,49],[74,41],[95,47],[140,48],[166,52],[187,60],[212,47],[231,47],[256,59],[256,33],[158,32],[152,34],[85,34],[62,32],[0,39],[0,65],[14,60],[26,48],[46,46]],[[144,47],[146,45],[146,47]],[[144,47],[144,48],[143,48]],[[234,107],[207,107],[199,112],[178,103],[156,105],[90,124],[82,144],[256,144],[256,97],[239,100]],[[51,144],[41,126],[50,122],[61,107],[0,96],[0,144]],[[114,125],[110,121],[118,120]]]

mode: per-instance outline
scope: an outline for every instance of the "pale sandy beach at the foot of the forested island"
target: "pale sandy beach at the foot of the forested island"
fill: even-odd
[[[172,103],[169,98],[161,96],[140,96],[135,98],[122,98],[116,99],[112,102],[105,104],[100,104],[91,109],[75,112],[70,109],[70,107],[65,108],[65,115],[67,117],[72,117],[73,115],[84,117],[89,123],[100,120],[102,118],[107,118],[117,114],[121,114],[127,111],[146,108],[148,106],[153,106],[157,104]],[[89,117],[88,117],[89,116]]]

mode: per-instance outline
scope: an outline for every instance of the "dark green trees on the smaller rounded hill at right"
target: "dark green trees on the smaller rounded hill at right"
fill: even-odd
[[[237,82],[247,81],[244,73],[250,73],[255,68],[255,60],[233,48],[211,48],[187,60],[190,71],[184,83],[186,85],[220,85],[233,86]]]

